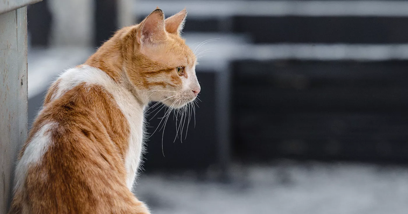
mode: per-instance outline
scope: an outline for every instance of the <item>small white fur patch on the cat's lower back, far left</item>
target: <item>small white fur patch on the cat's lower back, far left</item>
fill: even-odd
[[[14,191],[19,190],[21,185],[25,182],[29,165],[38,163],[45,152],[48,151],[51,145],[51,133],[47,131],[55,126],[57,126],[56,123],[43,125],[28,143],[24,154],[17,164]]]

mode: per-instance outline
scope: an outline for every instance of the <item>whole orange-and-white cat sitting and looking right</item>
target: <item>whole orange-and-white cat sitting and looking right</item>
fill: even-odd
[[[151,101],[181,108],[200,92],[180,37],[187,11],[156,9],[118,30],[48,89],[16,167],[9,214],[149,214],[132,193]]]

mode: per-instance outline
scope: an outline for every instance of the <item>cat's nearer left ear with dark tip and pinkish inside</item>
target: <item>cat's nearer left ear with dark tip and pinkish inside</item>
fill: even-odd
[[[136,33],[139,44],[158,43],[164,41],[166,32],[164,29],[164,13],[161,9],[155,9],[140,24]]]

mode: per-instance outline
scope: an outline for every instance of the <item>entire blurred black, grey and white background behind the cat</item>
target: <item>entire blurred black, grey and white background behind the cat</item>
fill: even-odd
[[[43,0],[29,124],[58,74],[156,6],[186,7],[202,90],[189,124],[146,113],[153,213],[408,213],[408,1]]]

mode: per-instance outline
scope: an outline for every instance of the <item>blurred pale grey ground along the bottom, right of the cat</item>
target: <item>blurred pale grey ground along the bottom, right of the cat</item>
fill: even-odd
[[[408,213],[404,167],[280,162],[237,167],[232,174],[238,178],[232,184],[142,174],[135,190],[154,214]]]

